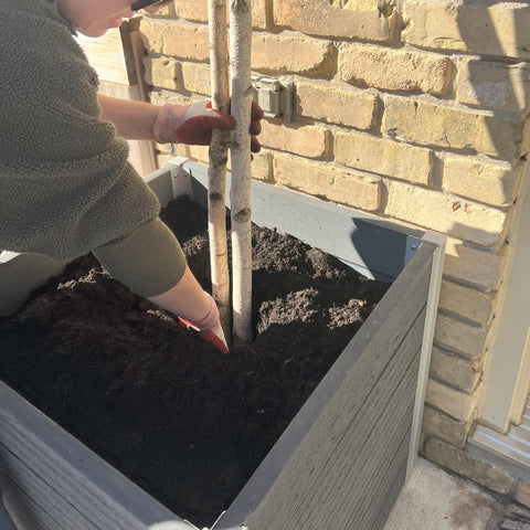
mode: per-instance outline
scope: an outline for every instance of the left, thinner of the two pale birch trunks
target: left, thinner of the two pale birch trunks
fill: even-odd
[[[226,0],[208,0],[210,33],[210,66],[212,106],[223,114],[230,113],[229,30]],[[218,304],[221,325],[226,340],[231,341],[230,274],[226,243],[225,183],[226,160],[231,144],[230,132],[214,129],[209,150],[208,167],[208,231],[212,296]]]

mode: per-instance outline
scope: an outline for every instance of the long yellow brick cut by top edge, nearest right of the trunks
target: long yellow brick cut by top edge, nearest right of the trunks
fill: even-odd
[[[275,0],[274,23],[303,33],[388,42],[393,10],[378,0]],[[388,2],[390,4],[390,2]]]

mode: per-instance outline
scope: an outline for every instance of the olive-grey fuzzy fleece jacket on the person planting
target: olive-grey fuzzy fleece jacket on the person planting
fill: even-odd
[[[54,0],[0,0],[0,250],[72,258],[159,213],[74,34]]]

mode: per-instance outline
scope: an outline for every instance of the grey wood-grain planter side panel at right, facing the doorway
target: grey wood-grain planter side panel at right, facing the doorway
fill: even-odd
[[[432,251],[421,246],[220,529],[382,528],[405,480]]]

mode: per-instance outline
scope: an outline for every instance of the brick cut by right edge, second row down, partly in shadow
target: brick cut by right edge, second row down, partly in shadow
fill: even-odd
[[[529,65],[466,60],[458,66],[456,99],[494,110],[520,113],[528,108]]]

